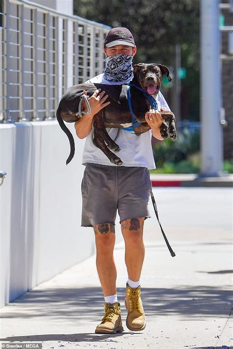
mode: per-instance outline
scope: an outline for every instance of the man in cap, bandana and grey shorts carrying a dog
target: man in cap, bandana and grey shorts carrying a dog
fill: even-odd
[[[122,84],[131,81],[132,59],[137,51],[132,33],[124,27],[111,29],[106,36],[103,50],[107,57],[105,72],[87,82]],[[82,226],[94,228],[96,267],[105,299],[105,315],[95,332],[123,331],[120,304],[117,300],[117,270],[113,257],[117,209],[125,242],[125,264],[128,272],[126,325],[130,330],[140,331],[146,327],[140,295],[140,275],[145,255],[143,227],[144,220],[149,216],[148,199],[151,190],[148,169],[155,168],[151,134],[163,140],[160,135],[162,117],[157,110],[146,112],[145,119],[151,130],[140,136],[120,129],[117,144],[121,149],[123,165],[114,165],[92,141],[93,116],[110,103],[107,98],[105,91],[96,90],[89,98],[91,114],[84,115],[75,123],[77,136],[87,137],[83,154],[86,168],[82,181]],[[158,109],[169,110],[161,92],[157,102]],[[107,131],[111,138],[116,137],[117,129]]]

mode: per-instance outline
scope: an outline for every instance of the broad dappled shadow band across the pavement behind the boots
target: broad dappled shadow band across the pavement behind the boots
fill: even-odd
[[[117,289],[118,300],[124,308],[125,289]],[[142,288],[146,316],[185,316],[186,320],[200,317],[224,318],[230,312],[231,288],[182,286],[173,289]],[[48,318],[74,322],[80,319],[96,322],[103,316],[103,294],[100,287],[53,288],[31,290],[4,308],[2,318]],[[17,310],[14,306],[17,305]],[[7,311],[8,310],[8,311]]]

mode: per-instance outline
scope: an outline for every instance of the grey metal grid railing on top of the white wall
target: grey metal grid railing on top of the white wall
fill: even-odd
[[[110,27],[26,0],[0,2],[0,122],[51,120],[63,92],[103,72]]]

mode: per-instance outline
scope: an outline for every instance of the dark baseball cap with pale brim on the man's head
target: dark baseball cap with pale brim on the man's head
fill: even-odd
[[[113,47],[116,45],[126,45],[134,47],[134,37],[129,29],[124,27],[112,28],[104,40],[105,47]]]

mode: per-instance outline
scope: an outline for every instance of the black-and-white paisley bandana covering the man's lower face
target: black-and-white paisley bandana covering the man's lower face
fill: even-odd
[[[107,57],[107,67],[104,78],[108,81],[119,82],[133,78],[133,56],[128,54],[114,54]]]

